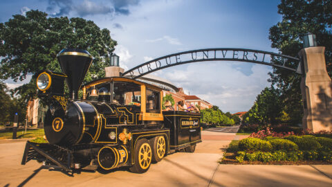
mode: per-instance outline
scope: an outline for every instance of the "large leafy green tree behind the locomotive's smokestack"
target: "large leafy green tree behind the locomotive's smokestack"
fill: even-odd
[[[27,98],[35,95],[37,73],[44,69],[61,72],[56,55],[62,48],[83,48],[95,59],[84,79],[89,82],[104,77],[104,67],[114,51],[116,41],[110,31],[93,21],[74,17],[48,17],[45,12],[30,10],[26,16],[13,15],[0,23],[0,79],[24,80],[33,74],[30,85],[15,91]]]

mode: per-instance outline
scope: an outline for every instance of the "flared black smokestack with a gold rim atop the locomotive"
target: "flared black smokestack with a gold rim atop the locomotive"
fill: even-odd
[[[68,77],[66,82],[69,89],[69,96],[77,99],[77,92],[81,87],[86,72],[92,63],[93,56],[88,51],[78,48],[65,48],[57,54],[57,60]]]

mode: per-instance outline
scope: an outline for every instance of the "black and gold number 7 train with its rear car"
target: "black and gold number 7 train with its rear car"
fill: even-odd
[[[142,173],[176,150],[194,152],[201,142],[200,114],[162,112],[159,87],[121,77],[81,85],[93,60],[89,52],[64,49],[57,59],[62,73],[44,71],[37,78],[38,96],[48,105],[49,143],[28,141],[22,164],[35,159],[67,172],[128,166]]]

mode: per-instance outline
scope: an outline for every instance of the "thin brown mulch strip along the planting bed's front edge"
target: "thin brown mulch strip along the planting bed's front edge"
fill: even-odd
[[[225,157],[219,163],[236,165],[332,165],[332,162],[326,161],[243,161],[242,163],[239,163],[235,157],[236,156],[233,152],[227,152]]]

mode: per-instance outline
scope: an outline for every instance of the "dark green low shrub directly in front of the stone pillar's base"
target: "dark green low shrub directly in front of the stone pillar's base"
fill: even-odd
[[[299,146],[299,150],[317,150],[321,147],[318,141],[311,138],[302,138],[301,136],[288,136],[285,137],[285,139],[296,143],[297,146]]]

